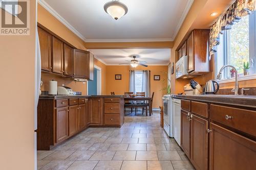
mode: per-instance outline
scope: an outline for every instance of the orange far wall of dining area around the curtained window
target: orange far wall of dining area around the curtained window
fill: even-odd
[[[129,65],[107,65],[106,66],[106,94],[114,91],[115,94],[123,95],[125,91],[129,91],[129,70],[133,69]],[[162,106],[162,96],[166,91],[163,88],[167,86],[167,70],[168,66],[148,66],[136,67],[138,70],[151,70],[151,94],[154,91],[153,108]],[[115,80],[115,75],[122,75],[122,80]],[[154,75],[160,75],[161,80],[154,80]],[[165,79],[165,81],[163,81]]]

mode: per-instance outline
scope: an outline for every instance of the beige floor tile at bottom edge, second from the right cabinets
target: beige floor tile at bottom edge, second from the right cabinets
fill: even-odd
[[[147,170],[174,170],[170,161],[147,161]]]

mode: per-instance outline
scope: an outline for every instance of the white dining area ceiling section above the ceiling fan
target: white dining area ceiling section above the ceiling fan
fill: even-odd
[[[136,56],[138,61],[145,61],[147,65],[168,65],[170,49],[99,49],[90,50],[95,58],[106,65],[118,65],[132,60]]]

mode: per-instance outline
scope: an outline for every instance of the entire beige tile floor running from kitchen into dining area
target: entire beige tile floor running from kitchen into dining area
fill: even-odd
[[[194,169],[160,128],[160,114],[127,114],[121,128],[88,128],[53,151],[37,152],[40,170]]]

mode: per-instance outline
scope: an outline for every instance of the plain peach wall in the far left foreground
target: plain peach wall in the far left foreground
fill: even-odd
[[[28,2],[30,35],[0,35],[0,169],[34,169],[36,3]]]

